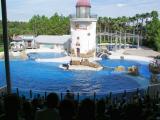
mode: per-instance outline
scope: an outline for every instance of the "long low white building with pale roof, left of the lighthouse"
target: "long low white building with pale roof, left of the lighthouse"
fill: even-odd
[[[39,35],[35,38],[38,48],[48,48],[56,51],[70,51],[70,35]]]

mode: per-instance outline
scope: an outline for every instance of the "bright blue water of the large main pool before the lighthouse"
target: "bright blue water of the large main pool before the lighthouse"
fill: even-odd
[[[115,72],[112,69],[101,71],[66,71],[59,68],[60,63],[40,63],[32,60],[12,60],[11,80],[13,88],[21,91],[55,91],[74,92],[120,91],[125,89],[142,88],[149,85],[150,72],[148,63],[127,60],[102,60],[103,66],[126,68],[139,66],[140,76],[130,76],[125,72]],[[5,85],[4,62],[0,61],[0,86]]]

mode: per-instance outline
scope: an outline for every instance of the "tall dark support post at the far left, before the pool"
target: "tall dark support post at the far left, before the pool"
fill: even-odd
[[[8,50],[6,0],[1,0],[1,8],[2,8],[2,27],[3,27],[3,43],[4,43],[4,57],[5,57],[7,93],[10,94],[11,93],[11,79],[10,79],[10,64],[9,64],[9,50]]]

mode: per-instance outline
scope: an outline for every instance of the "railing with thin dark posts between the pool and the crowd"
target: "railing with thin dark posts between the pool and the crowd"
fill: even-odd
[[[14,93],[17,93],[18,96],[25,96],[27,99],[34,99],[38,97],[44,97],[46,99],[47,95],[51,92],[55,91],[40,91],[40,90],[24,90],[24,89],[18,89],[13,88]],[[55,92],[58,94],[60,100],[63,100],[65,98],[65,95],[67,92]],[[111,100],[114,100],[115,98],[121,99],[122,96],[126,96],[127,99],[131,99],[133,95],[150,95],[151,97],[155,98],[155,96],[159,95],[160,93],[160,84],[156,85],[150,85],[143,88],[134,88],[134,89],[126,89],[126,90],[118,90],[118,91],[107,91],[107,92],[70,92],[74,100],[77,100],[78,102],[85,99],[90,98],[94,101],[97,99],[106,99],[109,98]]]

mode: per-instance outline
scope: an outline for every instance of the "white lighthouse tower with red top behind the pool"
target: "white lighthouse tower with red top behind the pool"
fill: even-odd
[[[76,16],[71,16],[72,53],[95,56],[97,15],[91,15],[89,0],[77,0]]]

